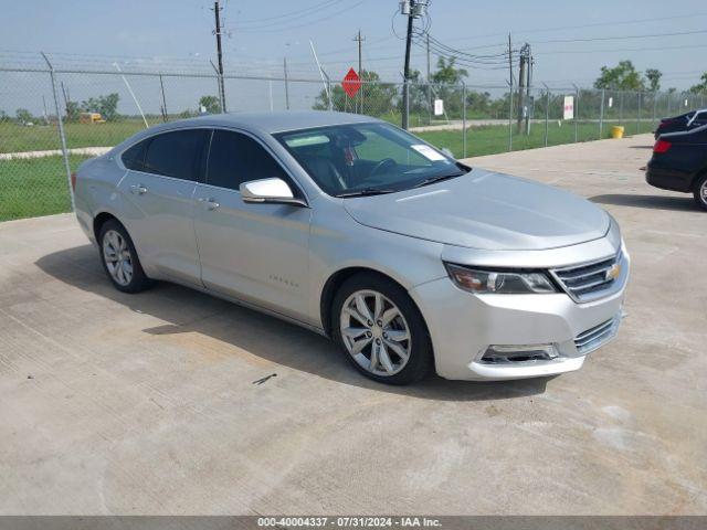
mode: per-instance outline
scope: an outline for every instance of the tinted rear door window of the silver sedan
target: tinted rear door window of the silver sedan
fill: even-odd
[[[147,146],[143,171],[182,180],[198,180],[198,167],[207,129],[165,132]]]

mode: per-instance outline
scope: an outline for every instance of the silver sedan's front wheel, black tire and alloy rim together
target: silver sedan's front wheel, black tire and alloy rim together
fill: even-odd
[[[420,310],[402,287],[382,276],[347,279],[334,297],[330,321],[346,358],[374,381],[409,384],[432,371],[432,341]]]

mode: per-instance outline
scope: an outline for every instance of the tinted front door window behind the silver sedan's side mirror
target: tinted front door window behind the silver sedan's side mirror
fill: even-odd
[[[279,163],[257,141],[240,132],[213,131],[208,184],[238,190],[242,182],[272,177],[289,181]]]

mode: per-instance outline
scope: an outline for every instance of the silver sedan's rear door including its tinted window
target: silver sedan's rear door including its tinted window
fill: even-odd
[[[209,129],[150,137],[123,155],[118,188],[137,214],[126,225],[148,274],[201,285],[193,195]]]

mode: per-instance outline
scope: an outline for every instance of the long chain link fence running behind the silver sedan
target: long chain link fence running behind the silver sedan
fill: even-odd
[[[70,173],[145,127],[204,113],[330,109],[384,119],[457,158],[648,132],[705,96],[578,87],[0,68],[0,221],[71,211]],[[403,93],[408,91],[407,106]],[[566,116],[571,97],[572,117]]]

